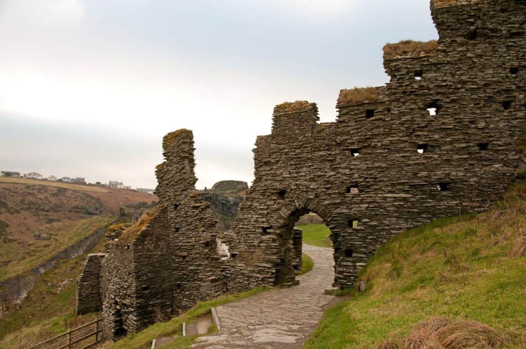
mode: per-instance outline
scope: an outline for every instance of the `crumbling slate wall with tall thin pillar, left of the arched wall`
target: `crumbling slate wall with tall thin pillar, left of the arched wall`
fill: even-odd
[[[105,338],[137,332],[225,292],[217,221],[194,188],[191,131],[166,135],[163,149],[155,213],[108,230],[100,271]]]

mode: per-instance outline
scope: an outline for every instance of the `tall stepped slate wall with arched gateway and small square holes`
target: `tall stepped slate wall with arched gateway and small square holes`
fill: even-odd
[[[362,100],[342,90],[336,122],[318,124],[308,102],[276,106],[227,234],[229,290],[294,281],[290,240],[300,213],[327,223],[334,285],[350,287],[393,234],[502,196],[526,126],[526,4],[436,0],[431,11],[438,45],[386,47],[390,82]]]

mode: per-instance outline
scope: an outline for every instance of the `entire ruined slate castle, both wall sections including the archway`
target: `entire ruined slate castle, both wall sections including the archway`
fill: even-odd
[[[334,286],[352,287],[392,235],[501,198],[523,165],[526,2],[432,0],[431,14],[438,43],[386,45],[389,83],[342,90],[335,122],[319,124],[306,101],[276,106],[271,134],[256,141],[255,180],[222,241],[228,258],[195,191],[191,131],[165,136],[160,206],[88,258],[77,312],[102,309],[104,336],[115,338],[225,292],[294,284],[293,228],[308,212],[331,230]]]

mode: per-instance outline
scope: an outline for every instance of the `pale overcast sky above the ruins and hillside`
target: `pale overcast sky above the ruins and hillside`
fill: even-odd
[[[428,0],[0,0],[0,170],[154,188],[188,128],[198,188],[250,182],[274,105],[334,121],[408,38],[437,38]]]

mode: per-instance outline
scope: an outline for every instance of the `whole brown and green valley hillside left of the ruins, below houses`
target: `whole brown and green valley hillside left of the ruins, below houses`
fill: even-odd
[[[151,201],[157,197],[124,189],[0,177],[0,282],[20,279],[15,276],[34,280],[15,309],[6,303],[10,310],[2,314],[0,304],[0,348],[24,347],[27,338],[38,341],[87,321],[73,316],[76,280],[86,254],[100,251],[104,239],[80,256],[78,249],[63,251],[92,247],[99,236],[93,233],[115,221],[119,203]],[[84,240],[89,236],[93,243]],[[54,266],[38,275],[35,267],[43,263]],[[16,285],[4,291],[19,293]]]

